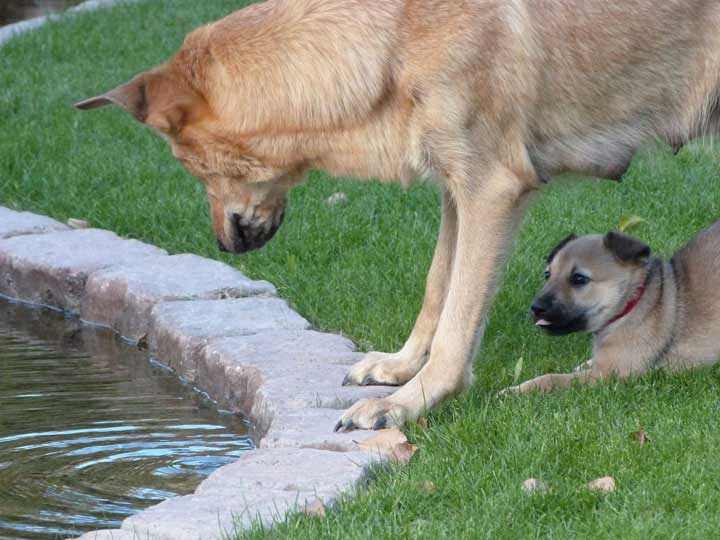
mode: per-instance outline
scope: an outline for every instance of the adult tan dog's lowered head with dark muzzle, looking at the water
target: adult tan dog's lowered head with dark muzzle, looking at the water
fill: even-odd
[[[118,105],[169,140],[173,156],[207,189],[213,230],[223,251],[242,253],[270,240],[282,223],[287,193],[303,179],[292,152],[264,151],[219,118],[208,102],[202,51],[181,51],[168,63],[142,73],[79,109]],[[209,67],[208,67],[209,66]],[[262,142],[266,142],[263,140]],[[267,146],[267,145],[266,145]]]

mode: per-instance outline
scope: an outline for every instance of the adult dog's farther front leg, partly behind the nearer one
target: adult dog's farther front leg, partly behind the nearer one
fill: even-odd
[[[443,189],[442,217],[435,255],[428,272],[425,298],[410,337],[396,353],[369,352],[348,372],[347,384],[400,385],[423,367],[430,351],[447,295],[452,259],[457,240],[457,211],[452,197]]]

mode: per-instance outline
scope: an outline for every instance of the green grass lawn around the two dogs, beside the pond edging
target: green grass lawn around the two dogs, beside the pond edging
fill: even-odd
[[[241,2],[157,0],[53,23],[0,51],[0,204],[83,218],[268,279],[318,328],[362,348],[398,348],[422,300],[439,222],[431,185],[408,190],[314,173],[292,192],[286,222],[265,249],[218,253],[201,185],[159,137],[118,110],[70,105],[159,63],[198,24]],[[318,538],[707,538],[720,530],[720,371],[652,374],[553,395],[497,400],[518,358],[526,379],[588,358],[589,338],[552,339],[527,306],[543,258],[569,231],[606,231],[629,214],[633,232],[670,254],[720,215],[718,152],[665,148],[637,158],[622,184],[549,186],[516,243],[479,353],[476,383],[441,406],[418,453],[381,472],[325,519],[290,518],[274,536]],[[336,191],[348,202],[328,207]],[[340,381],[338,381],[339,383]],[[630,433],[642,426],[651,442]],[[612,495],[580,486],[612,475]],[[528,497],[520,483],[551,488]],[[419,485],[432,481],[436,490]],[[267,533],[252,532],[251,537]]]

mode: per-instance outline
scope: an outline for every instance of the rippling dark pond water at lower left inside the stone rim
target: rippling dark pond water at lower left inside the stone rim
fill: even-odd
[[[246,433],[109,331],[0,300],[0,540],[116,528],[191,493]]]

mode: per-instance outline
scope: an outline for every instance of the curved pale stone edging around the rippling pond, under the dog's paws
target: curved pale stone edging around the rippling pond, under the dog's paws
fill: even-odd
[[[275,293],[217,261],[0,207],[0,295],[147,340],[155,359],[253,423],[257,449],[193,495],[82,540],[219,540],[366,481],[378,455],[354,440],[371,433],[332,428],[355,400],[388,390],[340,386],[361,356],[353,343],[313,331]]]

